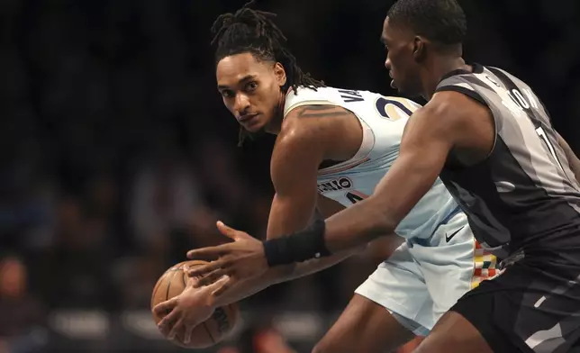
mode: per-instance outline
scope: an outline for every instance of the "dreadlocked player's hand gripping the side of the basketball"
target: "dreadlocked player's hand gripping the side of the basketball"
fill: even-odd
[[[227,278],[201,288],[195,287],[196,281],[195,278],[191,278],[181,294],[153,308],[153,312],[163,318],[159,321],[158,327],[168,339],[175,339],[178,333],[182,333],[183,343],[189,343],[195,326],[212,316],[215,308],[212,305],[211,295],[227,281]]]

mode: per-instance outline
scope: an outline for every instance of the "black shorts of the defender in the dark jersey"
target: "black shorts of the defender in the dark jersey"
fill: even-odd
[[[580,229],[552,238],[450,309],[495,353],[580,353]]]

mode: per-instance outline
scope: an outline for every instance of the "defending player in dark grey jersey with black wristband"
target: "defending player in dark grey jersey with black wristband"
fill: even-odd
[[[465,33],[455,0],[395,3],[382,33],[385,67],[399,91],[429,103],[412,113],[375,193],[306,231],[263,244],[232,231],[236,241],[190,252],[220,257],[190,273],[212,274],[198,285],[390,233],[440,176],[505,269],[459,299],[416,351],[580,351],[580,161],[530,86],[462,59]]]

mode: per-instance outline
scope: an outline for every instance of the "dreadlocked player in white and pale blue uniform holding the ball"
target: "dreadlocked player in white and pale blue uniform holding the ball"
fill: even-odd
[[[296,66],[269,16],[244,7],[218,19],[216,76],[224,104],[245,131],[277,135],[271,159],[276,195],[267,227],[267,238],[274,239],[304,229],[315,208],[330,216],[372,194],[397,157],[404,126],[419,105],[322,86]],[[320,168],[328,160],[338,162]],[[494,275],[494,257],[484,261],[466,215],[439,179],[432,180],[430,190],[393,231],[406,242],[358,287],[317,352],[392,351],[413,334],[426,335],[461,295]],[[225,291],[213,306],[320,271],[351,254],[275,267],[253,283]],[[192,322],[188,315],[204,312],[186,304],[194,301],[187,299],[192,294],[184,294],[181,303],[175,299],[156,308],[159,314],[173,310],[160,323],[169,336]]]

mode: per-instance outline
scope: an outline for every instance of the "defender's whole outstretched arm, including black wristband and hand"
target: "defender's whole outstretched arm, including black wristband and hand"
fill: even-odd
[[[399,157],[374,195],[326,222],[314,222],[312,229],[267,240],[263,245],[244,239],[194,250],[190,256],[219,259],[192,272],[204,275],[215,271],[238,278],[263,276],[268,267],[328,256],[391,234],[433,185],[451,149],[469,150],[484,158],[492,148],[493,133],[492,116],[485,106],[455,92],[438,93],[413,113]]]

